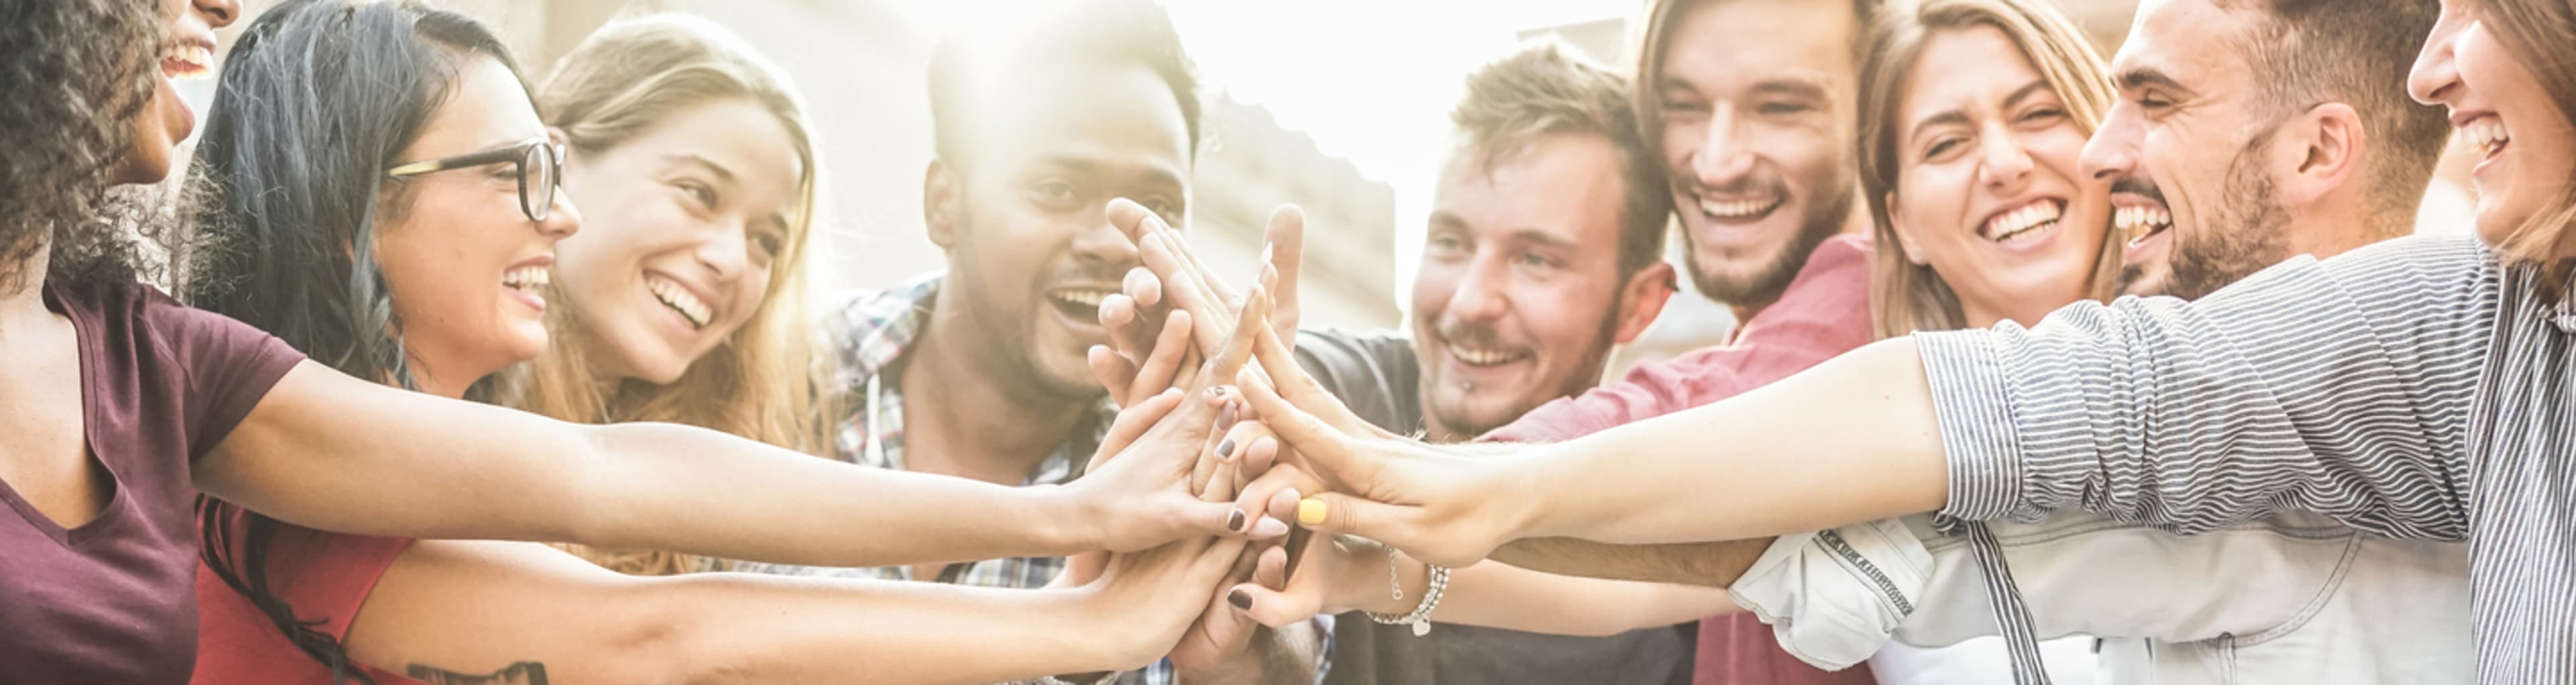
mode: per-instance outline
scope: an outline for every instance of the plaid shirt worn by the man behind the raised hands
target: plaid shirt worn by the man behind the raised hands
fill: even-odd
[[[930,322],[930,304],[940,296],[940,281],[943,273],[922,276],[889,291],[853,296],[824,314],[824,327],[832,332],[832,353],[840,355],[842,368],[837,389],[850,397],[850,407],[855,409],[835,433],[835,456],[842,461],[904,469],[904,355],[912,353],[922,327]],[[1048,453],[1020,484],[1061,484],[1082,476],[1082,464],[1090,464],[1092,451],[1100,448],[1100,435],[1115,417],[1118,404],[1103,397],[1074,430],[1072,440]],[[912,567],[829,569],[744,564],[742,569],[796,577],[914,579]],[[1059,572],[1064,572],[1061,556],[1020,556],[951,564],[943,579],[974,587],[1046,587]],[[1170,685],[1172,680],[1170,659],[1118,677],[1121,685]]]

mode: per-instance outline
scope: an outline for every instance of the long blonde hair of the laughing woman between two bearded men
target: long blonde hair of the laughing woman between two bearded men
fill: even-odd
[[[2022,57],[2040,70],[2048,88],[2066,100],[2066,116],[2089,136],[2110,113],[2110,64],[2084,39],[2056,5],[2043,0],[1924,0],[1914,10],[1901,10],[1878,23],[1870,59],[1860,67],[1860,188],[1870,203],[1873,234],[1878,234],[1875,273],[1870,278],[1870,322],[1878,337],[1917,330],[1960,330],[1968,314],[1960,312],[1958,294],[1932,270],[1906,260],[1896,242],[1896,224],[1888,219],[1888,193],[1896,191],[1901,162],[1896,157],[1896,108],[1904,106],[1906,80],[1932,36],[1994,26],[2022,49]],[[2102,232],[2087,294],[2110,301],[2120,286],[2120,232]]]

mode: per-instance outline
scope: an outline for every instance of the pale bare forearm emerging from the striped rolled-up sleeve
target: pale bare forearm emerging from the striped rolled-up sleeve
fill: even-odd
[[[1734,541],[1927,512],[1947,497],[1932,391],[1904,337],[1512,458],[1530,492],[1512,512],[1517,538]]]

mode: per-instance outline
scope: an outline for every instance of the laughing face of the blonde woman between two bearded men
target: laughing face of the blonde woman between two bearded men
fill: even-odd
[[[1929,36],[1906,82],[1888,196],[1906,258],[1940,273],[1973,327],[2081,299],[2105,216],[2066,216],[2084,126],[2063,98],[1994,26]]]

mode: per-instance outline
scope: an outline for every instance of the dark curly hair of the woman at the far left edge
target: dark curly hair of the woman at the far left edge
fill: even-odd
[[[152,3],[0,0],[0,291],[26,286],[36,250],[46,283],[137,278],[139,239],[100,206],[152,103],[160,28]]]

